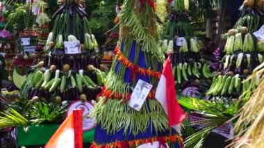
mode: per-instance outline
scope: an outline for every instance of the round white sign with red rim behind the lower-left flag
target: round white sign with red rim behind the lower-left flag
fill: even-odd
[[[83,112],[83,131],[90,131],[94,128],[94,118],[89,117],[90,110],[92,110],[94,106],[90,104],[88,101],[75,101],[74,103],[69,105],[67,109],[67,115],[69,115],[74,109],[82,109]]]

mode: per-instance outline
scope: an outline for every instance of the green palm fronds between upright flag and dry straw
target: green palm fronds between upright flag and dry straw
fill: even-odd
[[[192,124],[186,124],[186,121],[183,123],[183,135],[189,135],[185,139],[185,147],[202,147],[208,134],[211,133],[213,129],[217,128],[217,126],[220,126],[231,120],[233,115],[238,110],[236,104],[226,104],[221,100],[215,102],[205,101],[203,99],[188,97],[181,94],[178,94],[178,102],[181,104],[181,106],[188,108],[188,110],[206,113],[206,115],[204,115],[206,120],[194,122]],[[194,131],[191,129],[191,125],[195,124],[207,126],[197,133],[194,133]]]

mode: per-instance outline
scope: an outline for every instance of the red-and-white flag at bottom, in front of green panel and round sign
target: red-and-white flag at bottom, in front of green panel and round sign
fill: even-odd
[[[83,148],[82,111],[73,110],[44,148]]]

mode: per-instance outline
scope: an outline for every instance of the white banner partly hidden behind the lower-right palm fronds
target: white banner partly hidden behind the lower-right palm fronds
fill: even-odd
[[[204,129],[207,127],[207,124],[195,124],[195,122],[201,122],[203,120],[206,120],[205,117],[202,117],[201,113],[190,113],[188,119],[190,120],[191,123],[194,124],[195,127],[199,129]],[[218,133],[228,139],[233,139],[233,124],[232,122],[224,123],[217,128],[213,130],[214,133]]]

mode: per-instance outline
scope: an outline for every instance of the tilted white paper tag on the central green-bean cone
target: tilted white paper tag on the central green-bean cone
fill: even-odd
[[[135,88],[131,94],[129,106],[139,111],[147,99],[147,95],[149,94],[151,88],[151,84],[142,80],[138,80],[138,83],[135,85]]]

